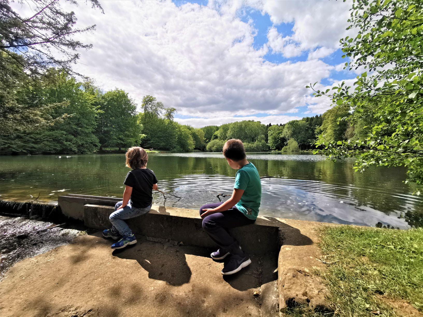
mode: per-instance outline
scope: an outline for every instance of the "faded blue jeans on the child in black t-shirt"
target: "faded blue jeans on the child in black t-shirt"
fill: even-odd
[[[118,231],[122,236],[132,235],[132,230],[129,229],[123,219],[130,219],[148,213],[151,209],[151,205],[146,208],[135,208],[131,206],[132,202],[129,200],[128,204],[124,208],[116,211],[123,203],[123,201],[116,203],[115,212],[110,215],[109,220],[113,224],[113,231]]]

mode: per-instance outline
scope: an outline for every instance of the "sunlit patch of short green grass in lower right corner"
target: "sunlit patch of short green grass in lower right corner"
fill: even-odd
[[[315,273],[328,286],[335,315],[407,315],[390,302],[401,299],[423,312],[423,229],[325,226],[320,233],[329,264]]]

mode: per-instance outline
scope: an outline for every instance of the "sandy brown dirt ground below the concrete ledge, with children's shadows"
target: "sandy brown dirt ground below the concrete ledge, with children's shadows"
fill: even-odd
[[[223,277],[210,250],[138,239],[113,251],[100,235],[16,263],[0,316],[260,316],[263,259]]]

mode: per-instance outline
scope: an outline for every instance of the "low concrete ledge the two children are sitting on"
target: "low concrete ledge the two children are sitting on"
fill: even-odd
[[[84,206],[84,224],[94,229],[110,227],[109,216],[114,208],[87,204]],[[149,213],[129,219],[128,225],[137,234],[153,238],[182,241],[184,244],[214,248],[216,244],[203,231],[198,210],[153,206]],[[232,230],[242,248],[250,254],[266,254],[279,249],[281,221],[258,219],[255,224]]]

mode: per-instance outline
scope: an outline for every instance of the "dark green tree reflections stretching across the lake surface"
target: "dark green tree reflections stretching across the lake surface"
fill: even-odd
[[[292,157],[286,156],[286,158]],[[352,205],[368,206],[391,216],[399,216],[399,214],[393,215],[393,212],[402,212],[409,225],[422,224],[422,213],[418,211],[423,209],[422,199],[401,195],[409,192],[408,185],[402,183],[405,178],[404,169],[378,167],[360,174],[352,169],[352,161],[333,163],[323,160],[294,159],[251,159],[251,161],[257,167],[260,176],[279,175],[287,179],[303,180],[280,180],[282,183],[285,182],[286,186],[325,195],[335,200],[352,201]],[[69,158],[4,157],[2,167],[3,172],[0,173],[2,194],[28,198],[28,194],[34,196],[41,192],[40,199],[56,199],[57,194],[61,193],[51,196],[49,194],[58,189],[69,189],[66,193],[122,197],[123,181],[129,171],[125,167],[123,154],[72,155]],[[183,197],[179,202],[175,197],[166,199],[167,206],[178,207],[195,207],[208,199],[210,202],[217,202],[216,194],[230,193],[227,191],[231,191],[236,174],[236,170],[229,167],[222,155],[219,157],[207,154],[200,157],[150,155],[148,168],[156,173],[159,189]],[[350,184],[353,186],[349,186]],[[177,193],[178,191],[181,194]],[[154,198],[155,203],[163,204],[162,194],[154,194]],[[379,219],[375,219],[375,222],[377,221]]]

